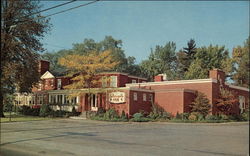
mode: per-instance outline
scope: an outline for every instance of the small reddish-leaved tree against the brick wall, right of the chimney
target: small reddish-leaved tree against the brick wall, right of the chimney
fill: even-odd
[[[238,102],[238,99],[227,89],[221,89],[219,97],[215,100],[216,107],[222,114],[228,114],[235,102]]]

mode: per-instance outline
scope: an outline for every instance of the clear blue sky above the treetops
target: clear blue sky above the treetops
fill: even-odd
[[[48,8],[65,2],[41,3]],[[231,52],[249,36],[249,1],[99,1],[50,18],[53,26],[42,41],[48,52],[71,49],[86,38],[99,42],[112,36],[122,40],[125,55],[134,56],[137,63],[147,59],[151,48],[169,41],[176,43],[176,51],[193,38],[197,47],[218,44]]]

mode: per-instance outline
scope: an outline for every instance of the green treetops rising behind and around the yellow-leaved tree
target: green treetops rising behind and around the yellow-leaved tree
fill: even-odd
[[[67,55],[88,55],[92,51],[111,51],[113,61],[119,62],[112,71],[126,72],[131,75],[141,76],[140,68],[135,64],[135,57],[125,56],[122,49],[122,41],[116,40],[112,36],[106,36],[102,41],[95,42],[93,39],[84,39],[83,43],[73,44],[72,49],[63,49],[54,53],[45,53],[42,58],[51,62],[51,71],[54,73],[66,73],[67,69],[61,66],[58,60]]]

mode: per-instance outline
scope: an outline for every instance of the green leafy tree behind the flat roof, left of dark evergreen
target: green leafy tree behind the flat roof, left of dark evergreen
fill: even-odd
[[[151,54],[148,60],[141,62],[140,67],[143,74],[150,80],[153,80],[157,74],[165,73],[168,80],[176,78],[176,44],[168,42],[165,46],[157,45],[154,50],[151,49]]]

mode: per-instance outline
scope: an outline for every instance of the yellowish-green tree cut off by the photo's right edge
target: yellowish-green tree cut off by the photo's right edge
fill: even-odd
[[[250,37],[244,43],[244,46],[238,46],[233,49],[233,62],[234,70],[233,80],[236,85],[249,88],[249,48],[250,48]]]

